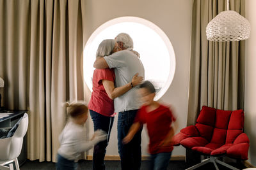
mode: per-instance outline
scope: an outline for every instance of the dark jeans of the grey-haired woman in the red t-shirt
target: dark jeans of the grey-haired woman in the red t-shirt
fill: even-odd
[[[108,133],[108,138],[106,141],[97,143],[93,149],[93,170],[102,170],[105,169],[104,157],[106,154],[106,148],[108,146],[110,132],[113,126],[114,117],[105,117],[93,110],[90,110],[90,115],[92,117],[94,131],[102,129],[102,131]]]

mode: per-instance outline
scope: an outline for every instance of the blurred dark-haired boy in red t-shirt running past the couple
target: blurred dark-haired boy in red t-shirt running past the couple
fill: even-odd
[[[172,122],[175,122],[175,118],[168,107],[154,101],[156,89],[150,81],[145,81],[140,85],[140,94],[143,106],[138,111],[134,124],[123,139],[123,143],[129,143],[141,125],[147,124],[148,150],[150,153],[149,168],[154,170],[167,169],[173,150],[172,137],[174,131]]]

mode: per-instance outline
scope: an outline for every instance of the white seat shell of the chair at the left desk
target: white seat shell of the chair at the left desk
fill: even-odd
[[[0,162],[19,157],[23,138],[28,130],[28,114],[24,113],[20,124],[11,138],[0,139]]]

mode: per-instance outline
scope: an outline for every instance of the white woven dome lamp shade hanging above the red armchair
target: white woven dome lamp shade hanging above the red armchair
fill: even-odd
[[[250,36],[250,23],[236,11],[222,11],[206,27],[209,41],[240,41]]]

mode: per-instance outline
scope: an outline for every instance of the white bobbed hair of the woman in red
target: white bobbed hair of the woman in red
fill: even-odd
[[[96,57],[104,57],[106,55],[110,55],[115,47],[115,39],[104,39],[96,52]]]

